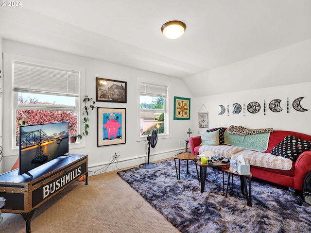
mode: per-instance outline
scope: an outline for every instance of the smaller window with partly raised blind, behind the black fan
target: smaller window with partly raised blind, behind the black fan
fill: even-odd
[[[150,135],[153,129],[158,134],[168,134],[168,86],[140,83],[140,136]]]

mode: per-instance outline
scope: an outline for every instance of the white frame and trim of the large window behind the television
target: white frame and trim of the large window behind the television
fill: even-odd
[[[45,106],[33,104],[18,104],[18,92],[13,91],[13,61],[23,61],[26,63],[41,64],[49,67],[60,67],[68,70],[76,70],[79,72],[79,97],[75,97],[75,106],[66,106],[65,108],[60,105]],[[78,132],[82,132],[81,124],[81,109],[83,101],[81,97],[85,95],[85,89],[83,84],[85,83],[85,67],[78,67],[69,64],[57,63],[38,58],[32,58],[22,55],[15,55],[10,53],[3,53],[3,86],[6,87],[6,91],[3,93],[3,122],[7,124],[3,125],[3,132],[6,132],[6,137],[3,138],[3,145],[10,145],[6,147],[6,155],[16,155],[18,153],[18,147],[16,146],[16,110],[52,110],[52,111],[77,111],[77,128]],[[24,92],[23,92],[24,93]],[[40,94],[40,93],[38,93]],[[52,95],[52,94],[50,94]],[[81,140],[78,143],[69,144],[69,149],[85,147],[85,140]]]

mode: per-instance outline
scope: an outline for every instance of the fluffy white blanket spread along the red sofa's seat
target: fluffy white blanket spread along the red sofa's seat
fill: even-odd
[[[287,158],[276,156],[270,153],[264,153],[254,150],[247,150],[241,147],[219,145],[219,146],[202,146],[199,153],[203,154],[204,151],[210,150],[213,155],[219,155],[230,159],[231,156],[238,157],[243,155],[245,163],[252,166],[261,166],[265,168],[290,170],[293,166],[293,161]]]

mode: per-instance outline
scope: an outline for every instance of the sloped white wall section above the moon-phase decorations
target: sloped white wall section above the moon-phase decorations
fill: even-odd
[[[194,97],[310,82],[311,39],[185,79]]]

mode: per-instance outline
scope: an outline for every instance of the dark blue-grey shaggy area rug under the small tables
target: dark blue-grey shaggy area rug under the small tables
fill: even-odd
[[[201,193],[192,161],[190,174],[186,161],[181,161],[179,181],[173,159],[156,165],[118,174],[182,233],[311,232],[311,207],[299,206],[293,192],[253,180],[249,207],[238,176],[234,176],[234,190],[225,198],[223,174],[216,168],[207,167],[205,192]]]

